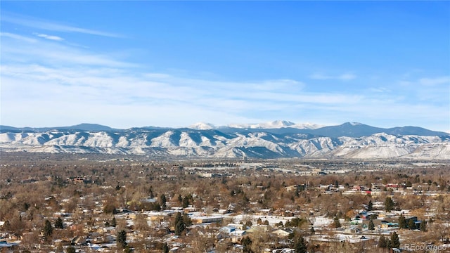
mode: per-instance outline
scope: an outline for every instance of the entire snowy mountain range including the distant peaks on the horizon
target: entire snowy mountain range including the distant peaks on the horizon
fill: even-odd
[[[389,129],[347,122],[338,126],[287,121],[186,128],[113,129],[99,124],[16,128],[0,126],[8,152],[107,153],[192,158],[350,158],[448,160],[450,134],[417,126]]]

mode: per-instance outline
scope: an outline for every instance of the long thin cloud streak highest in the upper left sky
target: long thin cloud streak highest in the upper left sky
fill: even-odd
[[[72,25],[62,25],[49,20],[39,20],[37,18],[30,18],[24,15],[16,15],[13,13],[2,12],[1,21],[10,22],[15,25],[23,25],[25,27],[33,27],[41,30],[48,30],[54,32],[77,32],[82,34],[91,34],[103,37],[123,37],[120,34],[113,32],[103,32],[98,30],[91,30],[82,27],[75,27]]]

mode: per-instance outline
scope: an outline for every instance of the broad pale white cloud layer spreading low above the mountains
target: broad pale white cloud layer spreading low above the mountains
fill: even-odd
[[[152,72],[115,57],[117,54],[100,55],[89,48],[48,38],[13,33],[1,36],[4,124],[39,126],[34,122],[41,122],[40,126],[49,126],[94,122],[131,127],[298,119],[319,124],[351,120],[380,126],[380,119],[385,119],[384,124],[397,125],[396,122],[410,122],[411,118],[427,122],[430,117],[444,121],[439,124],[448,122],[448,96],[442,95],[444,85],[438,85],[448,82],[448,77],[406,80],[409,86],[397,88],[383,84],[389,90],[378,85],[377,89],[362,92],[315,91],[308,82],[296,79],[219,82],[188,78],[188,74],[181,77]],[[343,81],[354,78],[349,73],[316,76]],[[417,86],[430,91],[415,91]],[[439,96],[434,100],[440,103],[407,100],[409,93],[399,96],[396,89],[414,91],[427,98]]]

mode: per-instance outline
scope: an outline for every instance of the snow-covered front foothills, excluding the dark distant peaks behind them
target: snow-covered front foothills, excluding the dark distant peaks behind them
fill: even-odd
[[[184,157],[342,157],[354,159],[449,159],[450,136],[399,136],[372,134],[364,137],[271,134],[214,130],[133,129],[112,131],[58,131],[0,134],[6,151],[42,153],[107,153],[177,155]]]

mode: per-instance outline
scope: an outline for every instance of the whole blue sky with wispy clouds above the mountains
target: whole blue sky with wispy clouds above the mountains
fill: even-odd
[[[449,1],[0,1],[0,124],[450,132]]]

